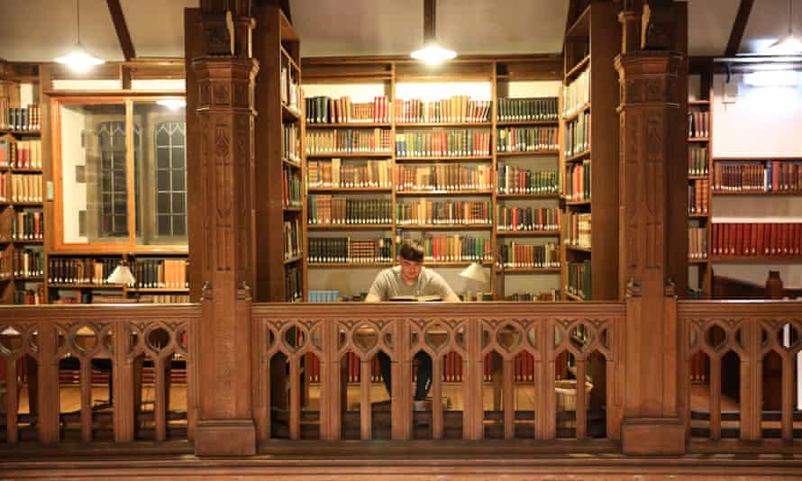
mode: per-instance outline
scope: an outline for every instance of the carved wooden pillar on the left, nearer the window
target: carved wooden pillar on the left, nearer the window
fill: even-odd
[[[256,448],[251,406],[254,282],[253,78],[256,62],[193,62],[203,186],[198,455]]]

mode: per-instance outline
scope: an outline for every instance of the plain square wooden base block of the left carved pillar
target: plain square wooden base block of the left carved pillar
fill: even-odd
[[[252,456],[256,454],[256,427],[250,419],[199,421],[195,431],[196,456]]]

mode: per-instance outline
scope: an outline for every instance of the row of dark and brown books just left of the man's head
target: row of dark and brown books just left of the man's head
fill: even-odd
[[[351,239],[351,237],[309,238],[308,261],[324,263],[372,263],[392,262],[393,240],[389,237],[376,239]]]

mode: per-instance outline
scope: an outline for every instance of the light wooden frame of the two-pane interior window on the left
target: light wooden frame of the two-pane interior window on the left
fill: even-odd
[[[134,102],[156,102],[164,99],[184,100],[184,92],[157,93],[153,92],[104,92],[102,94],[90,94],[87,92],[58,92],[49,93],[50,95],[50,118],[51,118],[51,145],[50,162],[51,175],[45,175],[46,187],[52,186],[52,217],[53,228],[46,231],[50,237],[50,253],[52,254],[125,254],[128,252],[136,254],[188,254],[187,244],[159,244],[144,245],[137,244],[136,240],[136,200],[135,200],[135,178],[134,178],[134,152],[133,152],[133,104]],[[65,242],[64,241],[64,184],[62,176],[61,158],[61,106],[62,104],[123,104],[125,106],[125,172],[127,185],[127,220],[128,220],[128,240],[118,242]],[[141,130],[141,129],[140,129]],[[187,141],[185,139],[185,152]],[[185,173],[187,166],[185,165]],[[50,190],[46,188],[47,192]],[[50,198],[45,199],[47,206]],[[188,227],[187,219],[187,227]],[[188,234],[188,231],[187,231]]]

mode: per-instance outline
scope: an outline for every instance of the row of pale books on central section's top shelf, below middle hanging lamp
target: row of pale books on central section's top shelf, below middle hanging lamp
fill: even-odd
[[[426,102],[420,98],[396,99],[396,123],[490,122],[489,100],[472,100],[469,95]]]

